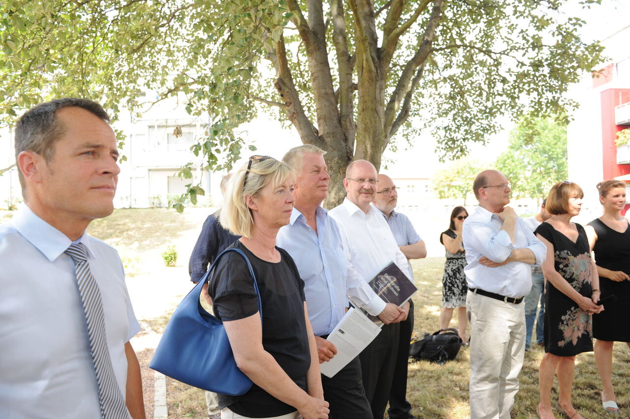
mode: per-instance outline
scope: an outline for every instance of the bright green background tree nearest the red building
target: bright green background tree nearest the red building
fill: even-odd
[[[496,169],[510,179],[514,198],[542,201],[549,189],[568,177],[566,125],[553,118],[520,118]]]

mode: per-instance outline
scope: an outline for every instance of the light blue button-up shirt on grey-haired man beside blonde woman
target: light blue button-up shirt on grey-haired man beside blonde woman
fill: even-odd
[[[339,228],[328,211],[316,210],[317,233],[295,208],[288,225],[280,228],[276,244],[289,252],[304,280],[309,319],[315,335],[328,335],[339,323],[348,306],[348,296],[372,315],[378,315],[385,302],[348,263]]]

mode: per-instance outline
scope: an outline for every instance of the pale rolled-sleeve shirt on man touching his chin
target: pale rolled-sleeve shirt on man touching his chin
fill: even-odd
[[[524,262],[508,262],[498,267],[487,267],[479,258],[487,257],[494,262],[503,262],[513,249],[527,248],[534,253],[536,265],[540,266],[547,255],[547,247],[534,236],[521,218],[514,228],[514,243],[503,228],[503,221],[496,214],[478,206],[464,221],[462,239],[468,265],[464,268],[468,288],[481,288],[490,293],[520,298],[532,288],[532,265]]]

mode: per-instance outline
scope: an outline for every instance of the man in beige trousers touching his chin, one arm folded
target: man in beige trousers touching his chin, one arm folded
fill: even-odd
[[[473,191],[479,206],[462,228],[471,323],[471,418],[507,419],[525,355],[521,303],[532,288],[531,265],[542,264],[546,247],[506,206],[511,189],[501,172],[479,173]]]

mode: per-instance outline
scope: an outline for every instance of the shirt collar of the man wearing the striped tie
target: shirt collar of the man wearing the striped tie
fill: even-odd
[[[33,213],[33,211],[28,208],[28,205],[23,206],[23,208],[11,218],[11,224],[13,224],[15,229],[18,230],[31,245],[42,252],[50,262],[57,259],[59,255],[64,253],[66,249],[74,243],[64,233]],[[93,259],[94,255],[88,238],[88,233],[83,232],[83,235],[75,240],[75,242],[83,243],[88,249],[88,257]]]

